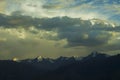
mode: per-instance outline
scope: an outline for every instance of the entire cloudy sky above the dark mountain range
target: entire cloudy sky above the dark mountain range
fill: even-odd
[[[120,0],[0,0],[0,59],[120,52]]]

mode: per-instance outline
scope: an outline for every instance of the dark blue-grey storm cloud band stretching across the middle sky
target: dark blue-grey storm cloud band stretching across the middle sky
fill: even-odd
[[[46,39],[66,39],[68,47],[72,46],[100,46],[105,45],[111,39],[111,31],[119,32],[119,26],[113,26],[102,20],[81,20],[80,18],[54,17],[54,18],[32,18],[14,13],[14,16],[0,16],[0,25],[4,27],[29,28],[34,26],[37,29],[55,31],[57,38],[46,35]],[[37,32],[31,31],[33,34]]]

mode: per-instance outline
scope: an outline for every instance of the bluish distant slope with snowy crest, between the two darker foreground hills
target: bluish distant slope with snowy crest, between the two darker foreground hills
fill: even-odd
[[[32,64],[32,66],[36,67],[37,69],[42,70],[55,70],[61,66],[65,66],[68,64],[72,64],[76,62],[74,57],[59,57],[57,59],[50,59],[50,58],[35,58],[35,59],[26,59],[22,60],[22,63]]]

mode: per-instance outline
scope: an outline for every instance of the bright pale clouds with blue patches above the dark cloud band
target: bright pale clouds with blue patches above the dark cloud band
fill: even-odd
[[[119,4],[119,0],[5,0],[1,11],[4,9],[5,14],[19,11],[32,17],[99,18],[119,24],[120,19],[116,17],[120,13]]]

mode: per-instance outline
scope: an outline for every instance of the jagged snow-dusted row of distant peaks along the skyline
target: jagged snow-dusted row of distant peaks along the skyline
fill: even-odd
[[[100,53],[100,52],[97,52],[97,51],[93,51],[91,52],[91,54],[89,54],[88,56],[86,57],[75,57],[75,56],[72,56],[72,57],[64,57],[64,56],[60,56],[58,58],[55,58],[55,59],[52,59],[52,58],[44,58],[42,56],[37,56],[36,58],[34,59],[27,59],[27,60],[23,60],[25,62],[32,62],[32,63],[56,63],[56,62],[73,62],[73,61],[81,61],[81,60],[84,60],[84,59],[91,59],[91,58],[95,58],[95,59],[104,59],[104,58],[107,58],[109,57],[109,55],[107,54],[104,54],[104,53]],[[15,61],[16,59],[14,59]]]

